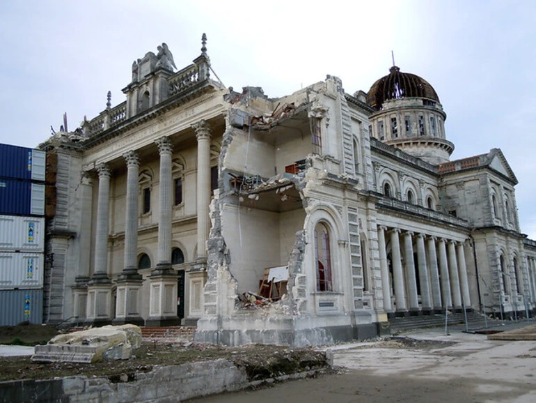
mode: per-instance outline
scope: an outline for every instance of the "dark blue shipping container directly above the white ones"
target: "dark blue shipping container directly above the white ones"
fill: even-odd
[[[45,215],[45,185],[0,179],[0,214]]]

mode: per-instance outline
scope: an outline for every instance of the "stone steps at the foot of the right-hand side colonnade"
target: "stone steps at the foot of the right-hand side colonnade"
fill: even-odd
[[[492,319],[488,319],[488,325],[494,322]],[[448,326],[464,325],[465,316],[464,313],[454,313],[448,315]],[[404,317],[389,319],[389,329],[391,334],[397,334],[405,330],[412,330],[416,328],[435,328],[439,326],[445,326],[445,314],[433,314],[423,315],[418,317]],[[484,315],[479,312],[467,312],[467,327],[469,330],[475,330],[484,328],[485,320]]]

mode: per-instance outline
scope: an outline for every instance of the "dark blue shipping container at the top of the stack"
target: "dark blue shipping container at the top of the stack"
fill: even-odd
[[[45,181],[45,151],[0,144],[0,177]]]

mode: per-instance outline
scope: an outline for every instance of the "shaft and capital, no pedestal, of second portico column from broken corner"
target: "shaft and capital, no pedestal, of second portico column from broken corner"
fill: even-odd
[[[160,185],[158,222],[158,264],[157,270],[171,269],[171,207],[173,178],[171,177],[171,153],[173,146],[168,137],[155,141],[160,153]]]

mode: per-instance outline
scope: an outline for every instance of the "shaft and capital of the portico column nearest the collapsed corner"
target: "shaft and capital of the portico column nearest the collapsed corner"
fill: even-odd
[[[210,126],[202,120],[192,125],[197,137],[197,257],[207,259],[210,229]]]

